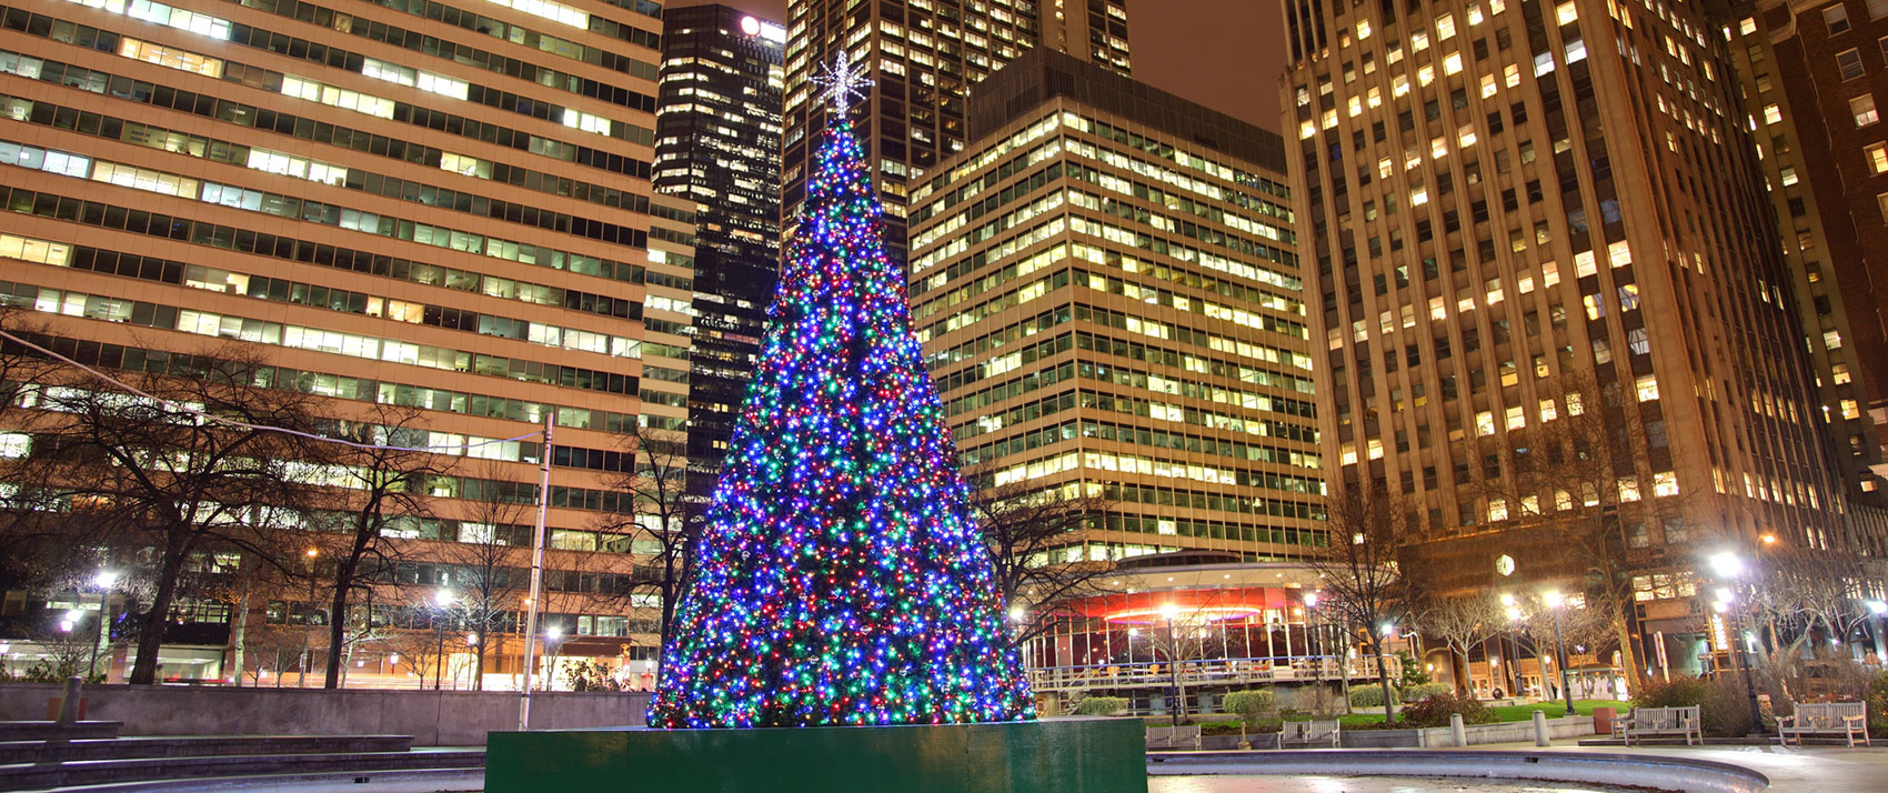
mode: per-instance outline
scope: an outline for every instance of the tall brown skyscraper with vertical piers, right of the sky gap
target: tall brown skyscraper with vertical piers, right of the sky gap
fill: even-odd
[[[1703,13],[1284,4],[1329,481],[1388,495],[1461,570],[1435,587],[1580,578],[1563,531],[1601,525],[1650,636],[1692,631],[1707,549],[1880,551],[1841,514],[1737,76]]]

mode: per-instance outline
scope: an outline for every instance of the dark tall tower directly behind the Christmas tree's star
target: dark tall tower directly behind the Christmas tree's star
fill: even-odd
[[[840,45],[878,81],[851,111],[876,162],[895,261],[906,261],[912,187],[969,140],[965,98],[972,85],[1037,45],[1129,74],[1125,0],[791,0],[782,155],[787,234],[806,196],[816,132],[827,125],[812,76]]]

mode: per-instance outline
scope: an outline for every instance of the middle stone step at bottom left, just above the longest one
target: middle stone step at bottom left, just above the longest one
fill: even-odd
[[[406,734],[191,734],[81,740],[4,740],[0,765],[211,755],[313,755],[334,751],[406,751]]]

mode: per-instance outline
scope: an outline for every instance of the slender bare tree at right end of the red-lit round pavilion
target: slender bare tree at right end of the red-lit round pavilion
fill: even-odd
[[[1414,604],[1397,572],[1397,557],[1407,542],[1407,527],[1382,493],[1346,491],[1325,498],[1325,531],[1331,548],[1312,555],[1308,568],[1322,578],[1318,608],[1339,625],[1361,633],[1376,657],[1376,682],[1384,689],[1384,721],[1395,721],[1395,695],[1384,665],[1384,627],[1410,614]]]

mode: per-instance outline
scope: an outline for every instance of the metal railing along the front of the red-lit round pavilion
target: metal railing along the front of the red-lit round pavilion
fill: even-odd
[[[1390,676],[1401,676],[1401,663],[1386,659]],[[1197,685],[1248,685],[1318,680],[1376,680],[1376,659],[1335,657],[1261,657],[1261,659],[1195,659],[1180,661],[1180,682]],[[1163,663],[1110,663],[1091,666],[1042,666],[1029,670],[1029,687],[1037,693],[1091,689],[1155,689],[1172,685],[1174,674]]]

